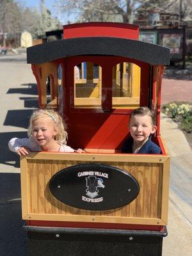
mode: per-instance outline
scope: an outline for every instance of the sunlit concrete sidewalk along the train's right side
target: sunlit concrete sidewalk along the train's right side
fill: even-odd
[[[161,136],[171,157],[168,237],[163,239],[163,255],[190,256],[192,150],[177,124],[164,114],[161,114]]]

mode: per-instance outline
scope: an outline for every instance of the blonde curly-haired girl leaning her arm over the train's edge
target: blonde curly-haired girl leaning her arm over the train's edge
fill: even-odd
[[[10,150],[19,156],[28,155],[31,151],[78,152],[83,150],[67,146],[66,125],[61,116],[52,110],[40,109],[30,118],[29,138],[12,138],[8,145]]]

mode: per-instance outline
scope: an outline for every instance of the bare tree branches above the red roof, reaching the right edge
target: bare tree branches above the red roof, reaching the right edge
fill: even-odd
[[[182,1],[182,19],[191,13],[189,2],[192,0],[58,0],[56,8],[61,13],[75,15],[77,22],[116,21],[132,22],[137,12],[148,12],[158,8],[159,12],[180,13]]]

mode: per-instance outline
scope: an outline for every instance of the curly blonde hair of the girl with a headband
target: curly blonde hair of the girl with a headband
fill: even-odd
[[[31,115],[31,118],[29,120],[29,127],[28,127],[28,137],[33,138],[33,129],[32,124],[35,120],[42,117],[49,117],[52,119],[52,122],[54,122],[54,125],[56,126],[56,130],[58,131],[57,134],[54,136],[54,140],[58,143],[61,143],[63,145],[67,144],[67,131],[66,131],[66,124],[63,121],[63,118],[61,116],[49,109],[39,109]]]

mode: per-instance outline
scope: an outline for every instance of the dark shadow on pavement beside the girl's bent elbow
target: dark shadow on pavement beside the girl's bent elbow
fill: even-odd
[[[8,141],[10,141],[10,139],[14,137],[26,138],[28,137],[28,134],[27,132],[1,132],[0,133],[0,141],[1,141],[0,163],[19,168],[20,167],[19,156],[16,153],[10,151],[10,149],[8,148]]]

